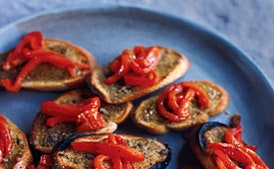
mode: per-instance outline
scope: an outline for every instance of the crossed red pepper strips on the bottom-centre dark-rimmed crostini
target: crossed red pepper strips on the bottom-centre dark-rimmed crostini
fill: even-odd
[[[72,142],[72,149],[76,151],[97,154],[93,165],[95,168],[133,169],[134,162],[144,161],[144,154],[129,148],[125,140],[115,134],[109,134],[102,142]]]

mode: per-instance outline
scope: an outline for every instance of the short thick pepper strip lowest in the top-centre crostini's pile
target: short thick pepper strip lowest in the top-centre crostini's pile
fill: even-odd
[[[132,86],[152,86],[157,82],[157,77],[157,73],[154,70],[145,75],[127,73],[124,75],[124,81],[127,85]]]

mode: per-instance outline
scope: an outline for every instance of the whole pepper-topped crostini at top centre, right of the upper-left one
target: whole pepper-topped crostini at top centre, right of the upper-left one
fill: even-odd
[[[172,49],[135,46],[92,71],[89,86],[108,103],[124,103],[175,81],[189,66],[188,59]]]

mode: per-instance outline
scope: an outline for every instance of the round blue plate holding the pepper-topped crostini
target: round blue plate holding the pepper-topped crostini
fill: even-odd
[[[178,81],[210,80],[223,86],[230,94],[229,106],[226,113],[210,120],[228,123],[233,114],[239,113],[243,138],[248,144],[257,145],[257,153],[274,168],[273,88],[249,57],[220,35],[168,14],[97,4],[48,11],[10,24],[0,30],[0,52],[15,46],[33,30],[42,31],[47,38],[68,40],[86,48],[101,65],[135,45],[166,46],[185,54],[191,68]],[[0,112],[28,133],[40,104],[59,94],[27,90],[12,94],[1,90]],[[122,124],[118,132],[168,143],[173,153],[170,169],[193,161],[181,132],[154,136],[128,123]]]

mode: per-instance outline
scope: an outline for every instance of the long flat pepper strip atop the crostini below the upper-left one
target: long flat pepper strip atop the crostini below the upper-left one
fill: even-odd
[[[88,98],[72,104],[59,104],[54,101],[46,101],[41,105],[41,112],[50,116],[78,116],[80,113],[95,107],[100,107],[101,102],[98,97]]]

